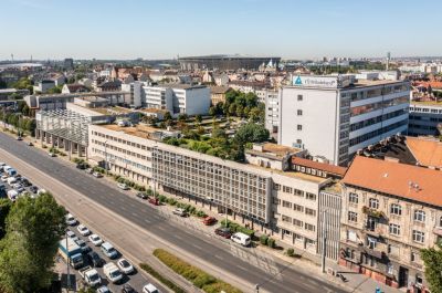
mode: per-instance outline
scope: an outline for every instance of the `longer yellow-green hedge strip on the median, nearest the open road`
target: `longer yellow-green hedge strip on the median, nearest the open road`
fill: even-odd
[[[194,286],[202,289],[207,293],[242,293],[241,290],[217,279],[201,269],[193,266],[180,258],[171,254],[164,249],[154,250],[154,255],[157,257],[164,264],[169,266],[176,273],[189,280]]]

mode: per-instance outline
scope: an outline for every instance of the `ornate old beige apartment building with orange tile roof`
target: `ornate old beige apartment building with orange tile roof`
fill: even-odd
[[[420,250],[442,239],[442,172],[357,156],[341,182],[339,263],[394,287],[428,292]]]

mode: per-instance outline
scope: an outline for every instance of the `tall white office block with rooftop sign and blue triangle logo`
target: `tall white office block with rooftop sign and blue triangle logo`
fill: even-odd
[[[358,149],[407,133],[409,96],[403,81],[294,76],[281,90],[278,143],[346,165]]]

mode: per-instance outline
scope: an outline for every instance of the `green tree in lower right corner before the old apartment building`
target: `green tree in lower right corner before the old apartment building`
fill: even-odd
[[[442,245],[436,248],[422,249],[421,258],[425,266],[425,279],[430,284],[431,292],[442,292]]]

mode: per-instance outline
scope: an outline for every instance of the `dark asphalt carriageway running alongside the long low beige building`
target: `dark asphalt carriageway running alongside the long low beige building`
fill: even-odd
[[[119,190],[2,133],[0,133],[0,147],[48,174],[53,180],[59,180],[77,190],[91,200],[123,216],[128,221],[175,244],[187,253],[240,278],[244,283],[261,284],[261,287],[267,292],[346,292],[293,266],[283,266],[276,263],[280,274],[264,272],[250,262],[232,255],[225,243],[221,241],[209,242],[202,234],[186,231],[181,226],[167,221],[154,207],[140,205],[137,199],[128,198]],[[30,179],[32,181],[32,178]],[[229,282],[229,280],[225,281]]]

